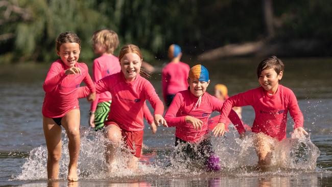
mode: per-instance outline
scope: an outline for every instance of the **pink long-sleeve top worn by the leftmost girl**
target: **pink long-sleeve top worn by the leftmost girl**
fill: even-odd
[[[77,62],[82,75],[65,75],[69,68],[60,59],[53,62],[43,84],[45,98],[42,106],[42,114],[47,118],[61,118],[69,110],[78,109],[77,90],[82,81],[88,87],[88,93],[95,92],[94,84],[88,74],[88,67],[85,63]]]

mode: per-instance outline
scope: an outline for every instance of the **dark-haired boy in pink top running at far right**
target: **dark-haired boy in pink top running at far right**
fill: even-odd
[[[254,132],[254,146],[258,155],[258,167],[266,169],[271,165],[273,145],[270,139],[281,141],[286,138],[287,113],[294,121],[294,132],[307,134],[303,129],[303,114],[297,104],[293,91],[279,84],[284,65],[276,56],[264,59],[257,67],[260,86],[228,98],[221,112],[220,124],[216,133],[223,131],[227,116],[234,106],[251,105],[255,111],[255,120],[251,128]],[[264,134],[268,135],[265,136]],[[270,138],[269,138],[270,136]]]

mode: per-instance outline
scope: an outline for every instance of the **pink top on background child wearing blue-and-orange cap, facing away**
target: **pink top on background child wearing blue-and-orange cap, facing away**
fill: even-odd
[[[167,95],[173,95],[188,88],[187,78],[189,70],[189,65],[183,62],[170,62],[162,68],[161,83],[165,102]]]

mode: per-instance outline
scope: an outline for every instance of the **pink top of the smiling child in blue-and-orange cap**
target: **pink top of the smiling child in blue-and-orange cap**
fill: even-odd
[[[221,111],[223,102],[205,92],[202,96],[201,104],[193,109],[198,98],[190,90],[178,92],[169,109],[165,113],[165,120],[169,127],[176,127],[175,136],[187,141],[196,143],[208,133],[208,119],[213,111]],[[193,116],[203,122],[201,130],[195,130],[191,123],[185,122],[185,116]],[[235,125],[239,133],[244,133],[243,124],[235,111],[231,111],[229,119]]]

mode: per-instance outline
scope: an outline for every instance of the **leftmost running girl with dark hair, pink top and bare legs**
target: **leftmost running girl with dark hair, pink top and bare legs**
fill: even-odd
[[[88,87],[89,100],[95,97],[95,88],[88,67],[79,63],[80,38],[70,32],[61,33],[56,41],[60,57],[53,62],[43,84],[45,98],[42,106],[43,130],[48,148],[48,178],[58,179],[61,158],[61,126],[69,142],[68,180],[77,181],[77,160],[80,152],[80,108],[77,90],[82,81]]]

